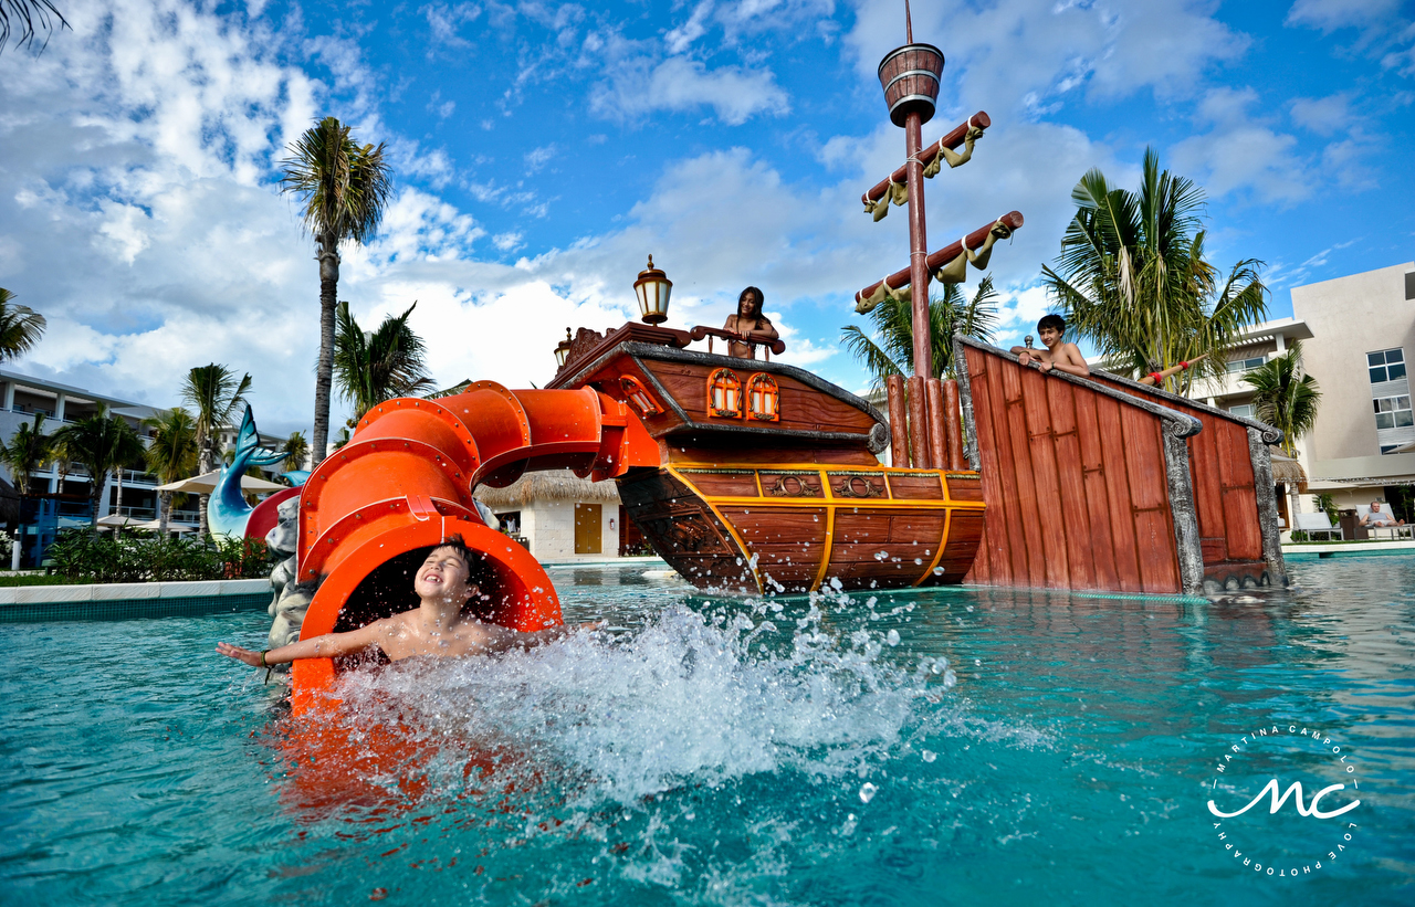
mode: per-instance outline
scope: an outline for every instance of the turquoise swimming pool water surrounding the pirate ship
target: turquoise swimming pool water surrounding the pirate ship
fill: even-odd
[[[1220,601],[553,570],[606,630],[355,672],[313,729],[212,654],[260,611],[0,625],[0,903],[1415,903],[1415,558],[1289,569]],[[1360,805],[1210,814],[1269,777]]]

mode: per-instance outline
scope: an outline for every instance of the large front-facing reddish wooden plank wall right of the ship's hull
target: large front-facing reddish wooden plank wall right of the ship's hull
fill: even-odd
[[[1163,419],[1010,358],[964,349],[988,504],[964,582],[1179,593]]]

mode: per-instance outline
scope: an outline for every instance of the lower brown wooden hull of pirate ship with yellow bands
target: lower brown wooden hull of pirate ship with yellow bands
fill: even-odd
[[[976,473],[676,463],[618,485],[655,552],[703,590],[954,584],[982,538]]]

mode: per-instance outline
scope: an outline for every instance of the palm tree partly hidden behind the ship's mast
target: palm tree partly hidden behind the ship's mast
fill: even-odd
[[[978,283],[972,300],[965,301],[958,284],[944,284],[944,294],[928,300],[930,330],[934,340],[934,378],[955,378],[954,337],[992,341],[998,324],[998,299],[992,277]],[[890,297],[870,311],[872,334],[849,324],[841,328],[841,342],[870,372],[873,385],[882,388],[890,375],[914,374],[914,313],[907,301]],[[879,337],[879,341],[874,340]]]

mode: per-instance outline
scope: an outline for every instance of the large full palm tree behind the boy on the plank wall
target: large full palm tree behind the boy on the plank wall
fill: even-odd
[[[1257,259],[1225,280],[1204,259],[1201,188],[1160,173],[1153,149],[1143,171],[1139,192],[1114,188],[1099,170],[1081,177],[1057,270],[1041,270],[1077,334],[1121,368],[1163,371],[1208,354],[1169,379],[1187,393],[1196,372],[1221,378],[1242,330],[1266,317],[1268,289]]]

